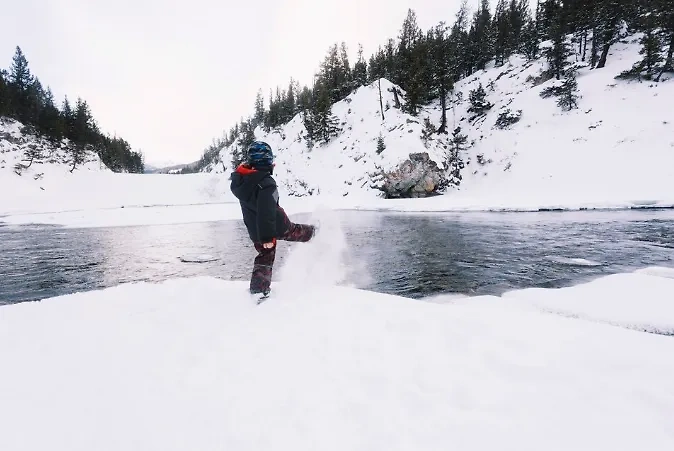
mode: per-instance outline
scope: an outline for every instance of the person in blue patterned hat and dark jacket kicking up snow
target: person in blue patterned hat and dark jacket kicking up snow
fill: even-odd
[[[279,205],[274,172],[274,154],[269,144],[255,141],[248,147],[246,163],[231,175],[232,193],[239,199],[243,222],[253,241],[257,257],[250,279],[250,292],[267,296],[276,257],[276,240],[306,242],[316,228],[294,224]]]

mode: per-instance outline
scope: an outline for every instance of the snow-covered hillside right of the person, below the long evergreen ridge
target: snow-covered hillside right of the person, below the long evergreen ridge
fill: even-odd
[[[581,68],[579,109],[563,112],[555,99],[541,98],[553,83],[536,85],[546,68],[543,59],[512,57],[460,81],[448,111],[449,130],[461,127],[470,147],[462,152],[463,181],[445,196],[406,203],[403,209],[538,209],[621,207],[674,204],[674,81],[626,82],[615,79],[639,59],[638,36],[612,48],[604,69]],[[494,104],[474,118],[470,91],[480,84]],[[428,152],[441,164],[447,137],[424,143],[423,121],[440,123],[439,102],[418,117],[393,107],[392,84],[382,80],[384,120],[377,83],[362,87],[333,107],[343,132],[328,145],[309,149],[300,116],[280,130],[264,133],[276,150],[275,174],[288,193],[345,197],[345,204],[372,205],[379,192],[371,174],[391,170],[410,153]],[[519,122],[499,129],[501,113],[519,114]],[[386,150],[376,153],[382,134]],[[451,135],[450,135],[451,137]],[[221,160],[231,170],[237,143]],[[222,165],[206,169],[222,172]],[[379,206],[386,204],[379,204]],[[395,201],[388,206],[403,203]]]

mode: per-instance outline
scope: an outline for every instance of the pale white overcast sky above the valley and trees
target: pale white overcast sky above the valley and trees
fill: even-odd
[[[3,5],[0,67],[23,49],[33,72],[89,102],[101,129],[146,161],[196,160],[252,113],[259,88],[310,84],[328,47],[365,55],[398,34],[408,8],[426,29],[460,0],[21,0]],[[469,0],[471,7],[479,0]]]

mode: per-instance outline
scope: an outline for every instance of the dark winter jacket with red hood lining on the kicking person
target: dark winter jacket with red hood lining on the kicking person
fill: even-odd
[[[251,240],[269,243],[290,229],[291,222],[278,204],[278,189],[271,171],[241,165],[232,173],[231,180],[232,193],[239,199]]]

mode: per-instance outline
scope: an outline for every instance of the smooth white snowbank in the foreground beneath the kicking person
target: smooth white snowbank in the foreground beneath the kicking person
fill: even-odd
[[[0,449],[671,450],[674,270],[429,302],[244,282],[0,308]]]

